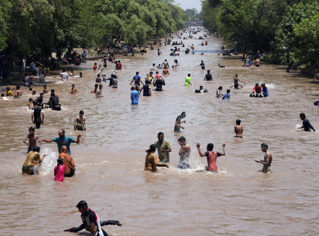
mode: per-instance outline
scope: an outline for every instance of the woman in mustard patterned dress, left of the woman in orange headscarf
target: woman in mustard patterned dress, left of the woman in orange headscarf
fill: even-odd
[[[30,151],[26,157],[26,161],[24,162],[22,166],[22,174],[23,175],[34,175],[39,173],[39,168],[41,163],[43,161],[43,158],[48,155],[44,154],[42,158],[40,158],[40,147],[35,146],[33,151]]]

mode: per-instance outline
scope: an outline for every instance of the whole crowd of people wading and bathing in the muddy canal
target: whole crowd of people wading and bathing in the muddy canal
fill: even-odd
[[[176,32],[177,39],[183,39],[183,41],[173,41],[170,38],[163,37],[163,39],[158,39],[154,41],[154,44],[159,44],[161,47],[162,45],[162,40],[164,41],[164,46],[166,45],[172,45],[174,48],[171,48],[171,53],[170,55],[172,56],[179,56],[179,52],[181,51],[180,47],[185,47],[185,40],[188,39],[196,39],[194,35],[199,34],[203,32],[201,28],[193,28],[193,29],[184,29],[182,32]],[[183,35],[183,33],[189,33],[187,36]],[[168,35],[167,35],[168,36]],[[171,36],[171,35],[170,35]],[[183,36],[183,38],[182,38]],[[205,32],[203,34],[203,37],[200,36],[198,39],[204,40],[204,38],[210,36],[210,33]],[[208,42],[202,42],[198,44],[200,46],[207,46]],[[133,53],[136,51],[136,48],[128,48],[127,45],[125,45],[126,50],[128,53]],[[123,45],[117,45],[117,49],[121,49]],[[152,50],[152,47],[151,47]],[[224,46],[222,47],[222,50],[224,50]],[[185,54],[191,53],[195,54],[195,46],[191,44],[189,48],[185,50]],[[103,50],[99,50],[99,54],[104,54]],[[145,47],[143,50],[141,50],[141,53],[148,53],[148,48]],[[160,49],[157,50],[157,53],[159,56],[162,55],[162,52]],[[235,55],[238,55],[237,51],[234,50]],[[265,52],[264,52],[265,53]],[[126,53],[127,54],[127,53]],[[204,55],[202,53],[201,55]],[[227,50],[227,53],[224,53],[222,55],[229,55],[232,56],[232,52],[229,52]],[[259,51],[257,51],[255,57],[252,56],[252,53],[249,54],[243,54],[242,56],[242,61],[244,62],[245,67],[251,66],[252,61],[255,61],[255,66],[260,67],[262,66],[260,62],[260,57],[263,54],[261,54]],[[58,61],[64,61],[65,63],[70,63],[70,58],[61,58],[60,54],[57,54]],[[86,53],[85,51],[82,53],[82,55],[70,55],[74,60],[79,59],[80,62],[86,62]],[[54,59],[53,59],[54,60]],[[93,71],[97,74],[96,80],[95,80],[95,86],[93,91],[91,91],[92,94],[96,96],[96,98],[101,99],[104,98],[102,94],[102,89],[103,89],[103,84],[109,82],[110,87],[113,89],[116,89],[118,86],[118,72],[122,70],[122,63],[121,60],[117,60],[114,56],[114,54],[109,54],[108,56],[104,55],[104,58],[102,59],[103,65],[97,65],[97,63],[94,63],[93,66]],[[25,63],[25,62],[24,62]],[[46,143],[52,143],[55,142],[57,143],[58,146],[58,152],[59,156],[57,158],[57,164],[54,167],[54,180],[63,182],[64,178],[69,178],[72,177],[75,174],[76,166],[74,163],[73,158],[71,157],[71,151],[70,151],[70,144],[80,143],[80,137],[82,136],[81,134],[78,134],[77,139],[74,139],[70,136],[65,135],[64,129],[60,129],[58,131],[58,136],[52,139],[44,139],[40,138],[38,135],[35,134],[36,129],[40,129],[41,125],[44,124],[44,112],[42,109],[44,108],[51,108],[52,110],[60,111],[61,110],[61,103],[59,101],[59,98],[55,92],[54,89],[51,89],[49,91],[48,85],[44,84],[43,85],[43,90],[39,94],[39,96],[36,95],[36,91],[33,90],[33,85],[34,85],[34,73],[38,73],[38,69],[35,68],[35,63],[38,63],[38,61],[33,60],[33,64],[30,65],[30,73],[29,75],[27,73],[24,73],[24,78],[23,78],[23,83],[24,83],[24,89],[28,89],[29,91],[32,91],[31,97],[28,101],[27,106],[29,109],[32,110],[31,112],[31,121],[34,124],[34,127],[29,128],[29,134],[26,136],[26,138],[23,140],[23,142],[28,146],[28,154],[26,157],[26,160],[22,166],[22,174],[23,175],[34,175],[39,173],[39,168],[41,167],[41,163],[44,160],[44,157],[47,154],[44,154],[42,157],[40,156],[40,147],[43,142]],[[107,67],[108,63],[113,63],[115,64],[115,73],[111,74],[110,77],[107,77],[105,74],[103,74],[104,68]],[[75,63],[76,64],[76,63]],[[144,81],[142,77],[140,76],[140,73],[137,71],[135,75],[133,76],[130,85],[134,83],[134,86],[130,88],[131,90],[131,104],[136,105],[138,104],[138,99],[139,96],[141,95],[141,92],[143,92],[143,96],[152,96],[152,91],[156,92],[161,92],[163,90],[163,86],[165,86],[165,80],[163,76],[169,75],[169,69],[176,70],[178,66],[181,66],[181,63],[178,63],[177,59],[174,59],[174,63],[170,67],[167,59],[165,59],[162,63],[159,63],[156,65],[155,63],[152,64],[150,67],[150,72],[146,74],[144,77]],[[222,66],[218,64],[220,68],[223,68],[225,66]],[[204,60],[201,60],[201,63],[195,66],[200,67],[201,70],[205,70],[205,63]],[[162,72],[160,73],[159,70]],[[289,67],[290,71],[290,67]],[[154,74],[155,73],[155,74]],[[49,74],[49,68],[47,67],[46,69],[42,70],[39,75],[39,82],[45,83],[45,77]],[[60,73],[60,77],[62,81],[67,81],[69,77],[76,77],[74,74],[74,71],[71,70],[70,73],[68,74],[65,72],[65,69],[62,70]],[[80,74],[78,77],[82,77],[82,74]],[[243,80],[241,80],[236,74],[233,76],[233,83],[229,87],[229,89],[226,90],[225,94],[222,94],[223,87],[219,86],[217,91],[216,91],[216,96],[215,98],[222,98],[222,100],[230,100],[230,89],[234,87],[234,89],[241,89],[243,86],[239,83],[245,83]],[[213,81],[212,75],[210,73],[210,70],[207,70],[207,74],[204,76],[204,81]],[[141,85],[142,84],[142,85]],[[155,87],[152,89],[151,85]],[[191,83],[191,74],[188,73],[188,76],[185,78],[185,86],[192,86],[193,84]],[[209,90],[203,88],[201,85],[199,88],[195,89],[196,93],[208,93]],[[15,99],[23,99],[22,95],[22,90],[20,89],[20,86],[16,86],[16,92],[15,94],[10,91],[10,87],[6,87],[6,96],[4,94],[1,95],[1,99],[3,100],[9,100],[8,98],[15,98]],[[70,94],[76,94],[78,93],[76,87],[74,84],[71,86],[71,91]],[[44,94],[50,94],[50,98],[48,102],[44,102],[43,96]],[[252,93],[250,94],[251,97],[269,97],[268,93],[268,88],[264,83],[259,85],[258,83],[255,84],[255,86],[252,88]],[[34,98],[34,99],[33,99]],[[319,97],[318,97],[319,100]],[[186,112],[182,112],[180,115],[177,116],[174,124],[174,132],[181,133],[181,129],[185,129],[184,126],[182,126],[182,123],[186,124]],[[300,114],[300,119],[303,122],[303,126],[301,126],[299,129],[304,129],[305,131],[310,131],[312,129],[315,131],[315,129],[312,127],[308,119],[306,119],[306,115],[304,113]],[[234,133],[236,134],[236,138],[243,138],[243,126],[241,125],[241,120],[237,119],[235,121],[235,126],[234,126]],[[73,122],[73,127],[74,130],[78,131],[85,131],[86,128],[86,121],[84,117],[84,111],[80,111],[78,117]],[[146,157],[145,157],[145,171],[151,171],[151,172],[156,172],[157,167],[167,167],[169,168],[169,163],[170,163],[170,157],[169,153],[172,151],[170,143],[168,140],[164,139],[164,133],[159,132],[157,136],[158,140],[154,142],[154,144],[151,144],[148,149],[145,150],[146,152]],[[178,138],[178,143],[180,144],[181,148],[179,150],[179,164],[178,168],[180,169],[188,169],[190,168],[189,164],[189,157],[190,157],[190,151],[191,147],[187,143],[186,138],[184,136],[180,136]],[[209,143],[206,146],[206,151],[203,153],[200,149],[201,144],[199,142],[196,143],[196,147],[198,150],[198,154],[200,157],[206,157],[207,159],[207,164],[208,164],[208,169],[207,171],[211,173],[217,173],[218,172],[218,166],[217,166],[217,157],[219,156],[224,156],[225,155],[225,142],[222,144],[222,151],[213,151],[214,144]],[[156,155],[157,151],[157,155]],[[257,163],[261,163],[263,165],[262,172],[263,173],[271,173],[271,162],[272,162],[272,155],[271,152],[268,150],[268,145],[267,144],[261,144],[261,151],[264,152],[264,156],[262,160],[255,159]],[[82,225],[79,227],[74,227],[70,228],[65,231],[69,232],[78,232],[82,229],[86,229],[87,231],[94,233],[94,235],[101,235],[101,232],[103,235],[107,235],[107,233],[101,228],[103,225],[119,225],[121,226],[122,223],[119,221],[100,221],[97,214],[93,211],[90,210],[87,206],[87,203],[85,201],[81,201],[78,203],[77,208],[79,212],[81,213],[81,219],[82,219]]]

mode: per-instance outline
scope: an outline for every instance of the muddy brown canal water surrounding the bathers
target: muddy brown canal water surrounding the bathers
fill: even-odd
[[[174,36],[176,37],[176,36]],[[90,92],[95,84],[93,64],[66,67],[67,72],[81,71],[82,78],[59,82],[46,77],[48,89],[54,88],[62,103],[62,111],[45,109],[41,138],[55,138],[59,129],[76,138],[71,144],[76,174],[63,183],[54,181],[58,150],[56,143],[43,143],[40,154],[48,153],[37,176],[22,176],[27,146],[22,142],[28,134],[31,112],[27,100],[31,92],[24,90],[24,99],[0,101],[1,165],[0,203],[1,235],[89,235],[63,232],[81,224],[75,205],[86,200],[100,220],[120,220],[122,227],[104,226],[109,235],[317,235],[318,226],[318,133],[297,130],[299,114],[304,112],[315,129],[318,107],[318,81],[286,67],[263,63],[262,67],[241,67],[240,57],[218,56],[222,39],[183,40],[194,44],[195,55],[169,56],[171,46],[162,46],[163,53],[154,51],[135,57],[118,57],[123,64],[118,88],[103,83],[104,99]],[[176,39],[174,38],[174,41]],[[180,41],[180,40],[177,40]],[[178,46],[181,49],[181,46]],[[205,55],[199,55],[204,51]],[[130,81],[136,71],[145,77],[152,63],[167,59],[182,63],[165,76],[165,91],[152,91],[151,97],[140,97],[138,105],[130,104]],[[210,69],[213,82],[204,82]],[[218,63],[226,68],[219,68]],[[104,70],[108,77],[115,65]],[[161,70],[160,70],[161,73]],[[194,86],[184,86],[191,74]],[[224,93],[238,74],[243,89],[231,89],[231,100],[215,98],[218,86]],[[35,79],[35,81],[37,81]],[[144,79],[143,79],[144,81]],[[255,83],[265,83],[269,98],[250,98]],[[71,84],[78,94],[70,95]],[[14,88],[8,81],[4,87]],[[203,85],[209,93],[194,90]],[[36,83],[39,94],[43,85]],[[15,92],[15,89],[11,89]],[[44,96],[44,101],[49,95]],[[74,131],[73,121],[84,110],[86,131]],[[174,133],[176,117],[187,114],[182,134]],[[235,120],[241,119],[243,138],[234,137]],[[172,147],[170,168],[159,167],[157,173],[144,172],[145,149],[164,132]],[[179,136],[191,146],[190,169],[178,169]],[[198,154],[195,143],[206,150],[208,143],[226,155],[217,159],[219,173],[208,173],[206,158]],[[273,173],[262,169],[255,158],[263,159],[260,144],[266,143],[273,155]],[[157,153],[156,153],[157,154]]]

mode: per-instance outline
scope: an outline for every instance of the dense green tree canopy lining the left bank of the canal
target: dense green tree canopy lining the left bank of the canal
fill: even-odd
[[[185,27],[184,11],[164,0],[1,0],[0,50],[47,58],[53,48],[147,40]]]

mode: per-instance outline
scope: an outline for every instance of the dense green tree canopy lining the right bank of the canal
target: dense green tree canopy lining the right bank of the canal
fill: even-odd
[[[203,0],[202,21],[237,49],[274,50],[280,60],[319,60],[319,3],[315,0]]]

